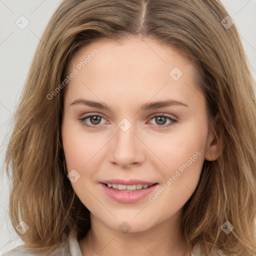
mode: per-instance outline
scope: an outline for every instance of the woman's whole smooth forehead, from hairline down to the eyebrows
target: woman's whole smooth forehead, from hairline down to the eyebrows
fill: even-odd
[[[122,100],[135,100],[140,94],[149,100],[154,95],[173,95],[189,101],[197,87],[195,67],[189,59],[148,38],[91,42],[73,55],[68,67],[69,72],[77,70],[68,84],[69,94],[75,96],[89,93],[104,98],[111,93]]]

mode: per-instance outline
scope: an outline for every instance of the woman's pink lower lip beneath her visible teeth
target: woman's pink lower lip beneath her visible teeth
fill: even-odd
[[[152,190],[156,187],[156,184],[154,184],[147,188],[141,188],[141,189],[131,190],[131,191],[122,191],[122,190],[115,190],[111,187],[106,186],[103,183],[100,183],[100,185],[102,186],[105,193],[109,197],[121,203],[132,203],[132,202],[139,201],[140,199],[144,198],[147,194],[152,192]]]

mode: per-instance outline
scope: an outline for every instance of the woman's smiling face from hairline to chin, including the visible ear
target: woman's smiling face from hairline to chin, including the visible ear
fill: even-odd
[[[81,202],[116,230],[177,220],[204,159],[216,158],[193,65],[171,47],[130,37],[80,48],[69,73],[62,142]]]

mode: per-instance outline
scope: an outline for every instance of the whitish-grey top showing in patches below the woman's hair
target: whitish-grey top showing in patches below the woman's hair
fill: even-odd
[[[34,252],[32,249],[28,248],[25,244],[19,245],[11,250],[5,252],[2,256],[41,256]],[[63,244],[60,249],[55,251],[51,256],[82,256],[78,240],[74,236],[69,236],[68,243]],[[195,244],[191,256],[203,256],[200,253],[199,244]]]

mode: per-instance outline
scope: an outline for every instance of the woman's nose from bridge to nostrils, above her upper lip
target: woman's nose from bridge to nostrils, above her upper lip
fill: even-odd
[[[139,134],[136,134],[135,126],[123,131],[117,126],[116,135],[111,141],[109,159],[112,164],[119,165],[121,168],[140,165],[144,161],[144,149]],[[145,146],[144,146],[145,147]]]

